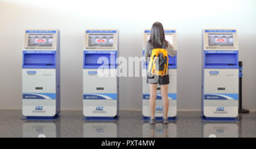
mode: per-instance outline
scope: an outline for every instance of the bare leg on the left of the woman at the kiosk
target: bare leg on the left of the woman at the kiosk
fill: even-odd
[[[149,84],[150,86],[150,114],[151,118],[155,118],[155,98],[157,84]]]

